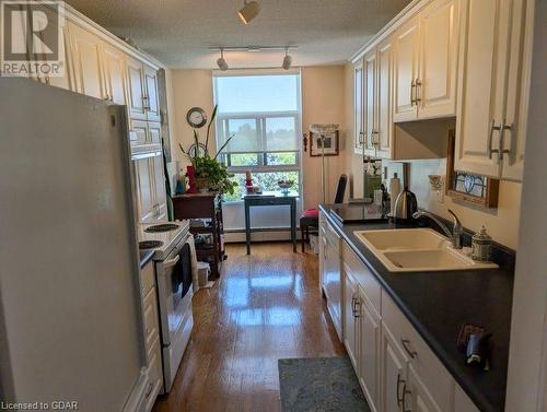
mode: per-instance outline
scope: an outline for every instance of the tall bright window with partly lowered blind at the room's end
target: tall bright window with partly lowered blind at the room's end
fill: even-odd
[[[300,191],[300,74],[219,73],[213,79],[217,148],[234,136],[221,158],[240,185],[225,200],[241,199],[245,170],[264,190],[279,190],[278,180],[288,178]]]

